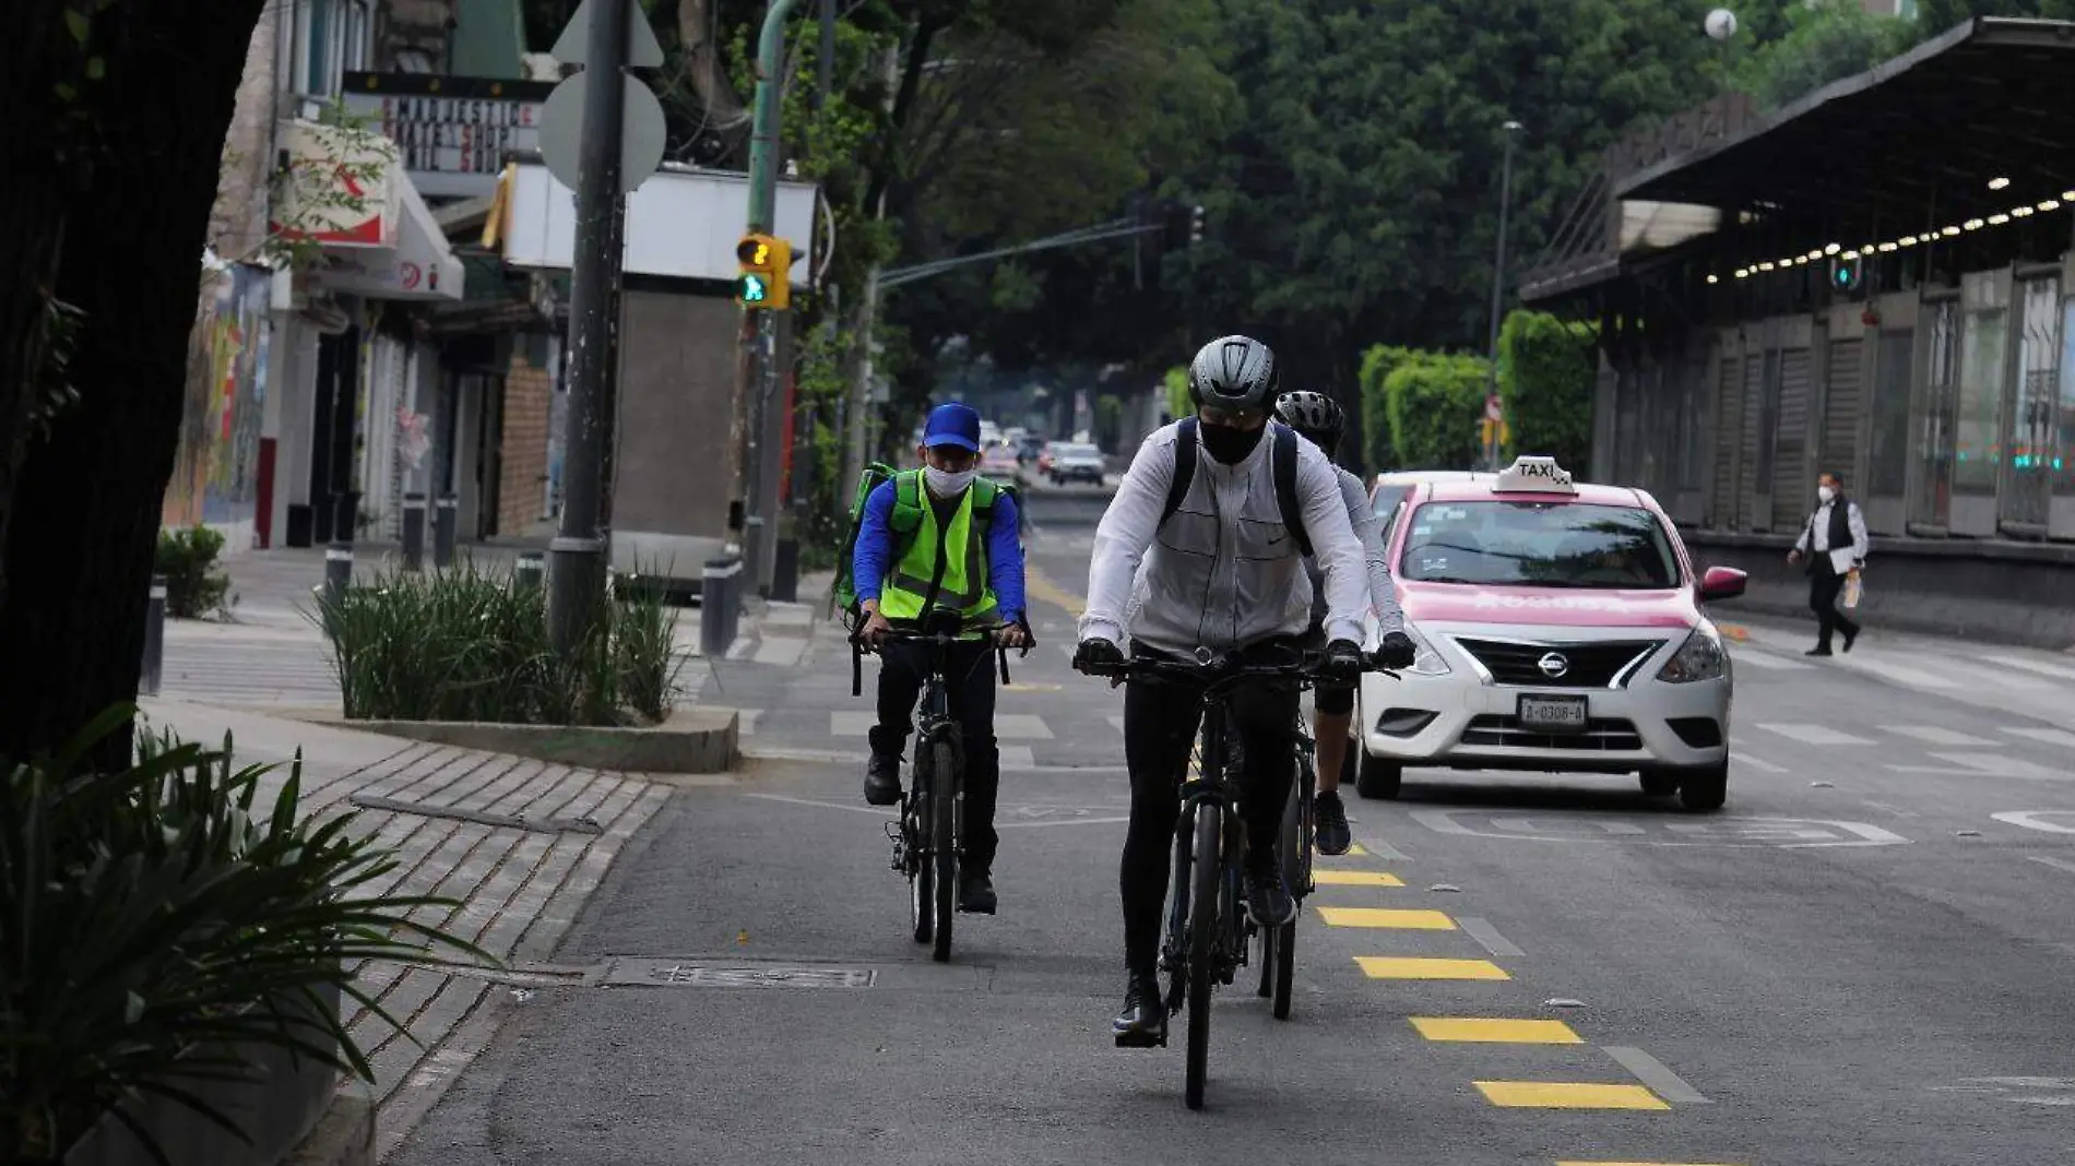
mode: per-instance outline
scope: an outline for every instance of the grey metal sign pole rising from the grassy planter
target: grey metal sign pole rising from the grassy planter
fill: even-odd
[[[569,280],[569,448],[562,469],[562,519],[548,544],[548,635],[573,662],[598,622],[604,585],[602,535],[608,390],[612,386],[612,288],[620,249],[614,216],[620,195],[627,12],[633,4],[591,4],[585,66],[577,241]]]

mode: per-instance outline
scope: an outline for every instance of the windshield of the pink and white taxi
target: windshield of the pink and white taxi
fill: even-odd
[[[1426,583],[1666,589],[1679,556],[1656,515],[1581,502],[1428,502],[1399,571]]]

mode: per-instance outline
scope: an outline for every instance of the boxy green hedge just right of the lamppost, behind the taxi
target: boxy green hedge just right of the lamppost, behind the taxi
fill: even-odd
[[[1589,324],[1515,311],[1498,332],[1498,396],[1509,456],[1548,454],[1573,473],[1592,463],[1592,398],[1600,351]]]

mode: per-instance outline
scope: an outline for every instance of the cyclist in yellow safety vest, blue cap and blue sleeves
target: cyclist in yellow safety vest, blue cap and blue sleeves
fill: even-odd
[[[994,913],[994,799],[1000,755],[994,747],[994,645],[1029,641],[1023,608],[1023,539],[1015,496],[977,481],[979,413],[938,405],[923,425],[921,469],[882,481],[857,529],[851,577],[865,612],[859,637],[880,647],[880,722],[872,726],[865,801],[901,801],[901,751],[915,699],[930,668],[923,643],[884,641],[894,627],[915,627],[932,610],[957,610],[967,627],[1004,622],[994,639],[961,643],[946,660],[950,716],[965,737],[965,820],[959,855],[959,911]],[[896,512],[905,521],[896,523]],[[911,533],[896,533],[911,531]],[[901,539],[907,539],[901,546]],[[898,548],[898,554],[896,554]]]

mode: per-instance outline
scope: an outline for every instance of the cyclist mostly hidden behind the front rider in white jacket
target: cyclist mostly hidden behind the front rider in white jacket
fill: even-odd
[[[1297,390],[1276,398],[1276,421],[1282,421],[1299,436],[1332,459],[1340,448],[1347,417],[1324,392]],[[1399,608],[1399,591],[1390,583],[1390,564],[1384,556],[1382,521],[1370,510],[1370,496],[1361,490],[1361,479],[1347,469],[1334,467],[1340,479],[1340,498],[1347,502],[1347,521],[1355,527],[1355,537],[1370,560],[1370,614],[1376,616],[1376,631],[1382,635],[1378,658],[1388,666],[1405,666],[1415,658],[1413,641],[1405,635],[1405,612]],[[1318,595],[1318,564],[1305,564],[1313,575],[1313,595]],[[1326,618],[1324,606],[1313,598],[1313,635]],[[1347,759],[1349,728],[1355,720],[1355,685],[1320,683],[1311,693],[1311,732],[1318,739],[1318,807],[1316,842],[1322,855],[1345,855],[1353,844],[1347,826],[1347,805],[1340,803],[1340,764]]]

